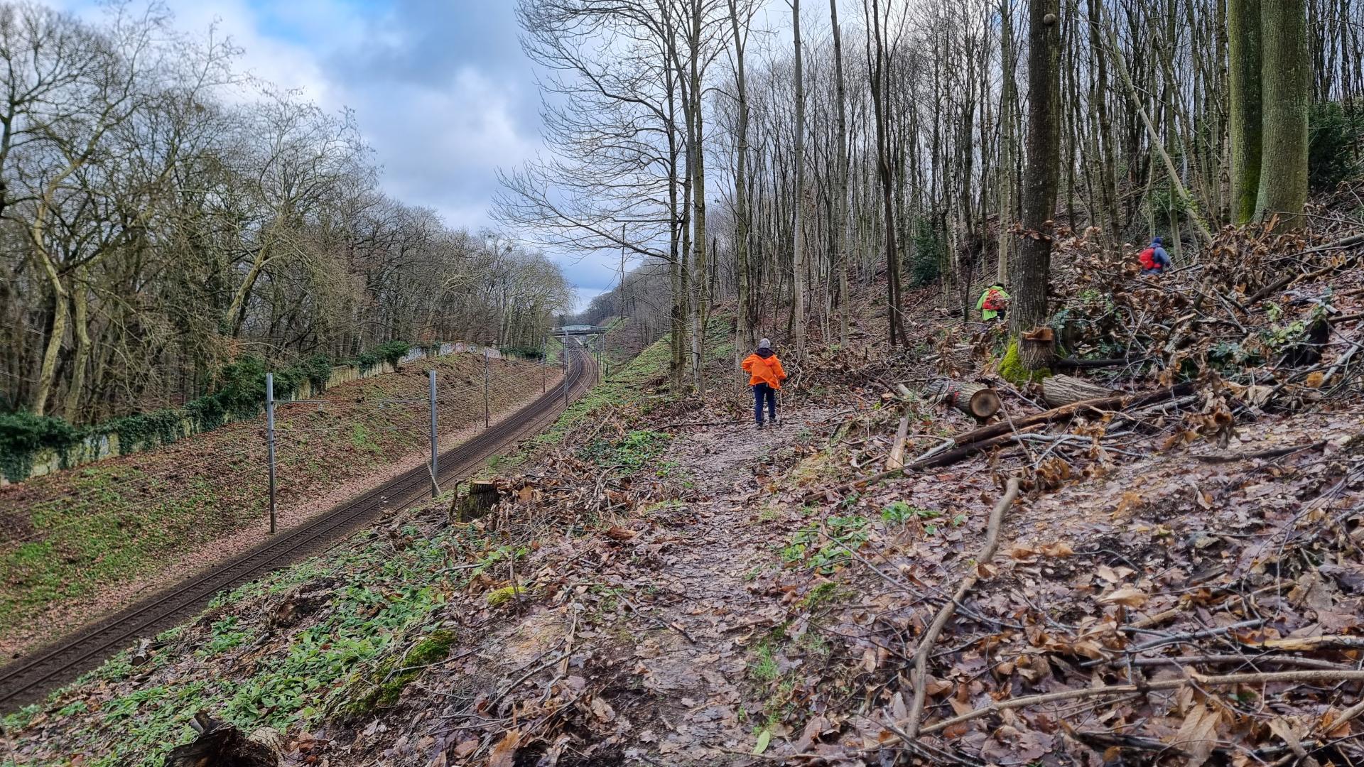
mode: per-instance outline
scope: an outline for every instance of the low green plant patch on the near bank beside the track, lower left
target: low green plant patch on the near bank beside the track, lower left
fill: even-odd
[[[71,727],[63,738],[67,757],[98,755],[83,762],[91,767],[150,767],[192,737],[195,711],[211,711],[247,732],[282,732],[331,712],[361,715],[391,706],[456,644],[445,620],[447,600],[473,576],[446,569],[450,553],[475,562],[496,554],[475,528],[432,534],[408,525],[402,532],[405,547],[367,532],[325,558],[221,594],[199,620],[162,633],[165,648],[147,665],[135,667],[121,652],[44,704],[4,717],[0,726],[22,747],[37,714],[61,712],[72,718],[63,721]],[[267,628],[259,616],[299,592],[315,602],[295,628]],[[280,641],[281,631],[288,641]],[[274,640],[262,644],[269,636]],[[145,673],[135,692],[86,703],[86,693]]]

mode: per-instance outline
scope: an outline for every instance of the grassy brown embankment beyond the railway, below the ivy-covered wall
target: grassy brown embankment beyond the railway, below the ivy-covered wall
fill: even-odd
[[[447,449],[483,429],[483,360],[454,355],[434,364]],[[277,408],[280,530],[430,460],[430,367],[420,360],[336,386],[318,404]],[[558,378],[546,371],[546,385]],[[494,419],[539,396],[540,384],[537,363],[495,360]],[[262,416],[0,489],[0,658],[262,543],[265,464]]]

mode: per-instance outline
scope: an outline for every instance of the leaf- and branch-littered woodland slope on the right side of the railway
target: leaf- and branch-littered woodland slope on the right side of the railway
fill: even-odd
[[[1192,323],[1198,285],[1063,284],[1086,328],[1202,329],[1041,422],[978,366],[998,330],[925,292],[914,349],[862,296],[757,430],[717,318],[704,400],[649,347],[490,468],[490,515],[443,497],[224,595],[7,717],[0,764],[161,764],[198,711],[288,766],[1360,763],[1364,269],[1331,259]],[[1000,388],[1008,439],[887,474],[898,423],[911,463],[978,426],[895,393],[944,371]]]

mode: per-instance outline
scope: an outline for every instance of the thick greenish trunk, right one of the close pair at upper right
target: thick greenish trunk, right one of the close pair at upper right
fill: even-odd
[[[1256,216],[1303,225],[1307,203],[1307,113],[1312,61],[1307,48],[1307,0],[1260,0],[1263,145]]]

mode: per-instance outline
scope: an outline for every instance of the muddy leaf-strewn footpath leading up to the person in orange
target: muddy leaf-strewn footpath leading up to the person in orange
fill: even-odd
[[[674,442],[667,460],[690,472],[704,500],[657,520],[674,540],[662,566],[621,573],[629,591],[657,592],[632,621],[636,644],[623,648],[633,652],[632,673],[648,693],[627,711],[636,725],[623,744],[627,763],[753,759],[747,753],[761,714],[757,701],[745,700],[752,655],[742,643],[784,617],[771,596],[753,588],[757,569],[780,565],[767,536],[754,530],[764,502],[764,464],[827,415],[798,411],[775,429],[713,427]]]

